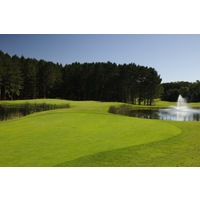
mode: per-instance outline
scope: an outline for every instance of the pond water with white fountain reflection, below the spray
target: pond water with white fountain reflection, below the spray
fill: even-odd
[[[131,110],[129,116],[160,119],[160,120],[175,120],[175,121],[200,121],[200,110],[191,109],[190,111],[176,109],[152,109],[152,110]]]

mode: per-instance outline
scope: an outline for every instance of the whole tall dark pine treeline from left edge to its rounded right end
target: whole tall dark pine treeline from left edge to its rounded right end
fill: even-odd
[[[65,98],[151,105],[161,78],[152,67],[78,62],[62,66],[0,51],[0,99]]]

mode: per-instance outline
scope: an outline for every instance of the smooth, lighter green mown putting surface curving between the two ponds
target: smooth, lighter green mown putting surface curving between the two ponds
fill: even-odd
[[[181,133],[167,121],[107,113],[109,106],[117,103],[66,102],[71,108],[1,122],[0,166],[55,166]]]

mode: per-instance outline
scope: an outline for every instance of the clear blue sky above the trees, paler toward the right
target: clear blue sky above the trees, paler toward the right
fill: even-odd
[[[154,67],[163,82],[200,80],[200,35],[0,35],[0,50],[55,63],[134,62]]]

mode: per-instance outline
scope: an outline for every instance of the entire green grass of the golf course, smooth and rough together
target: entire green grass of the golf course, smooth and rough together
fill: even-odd
[[[70,108],[0,122],[0,166],[200,166],[199,122],[107,112],[120,103],[49,101]]]

